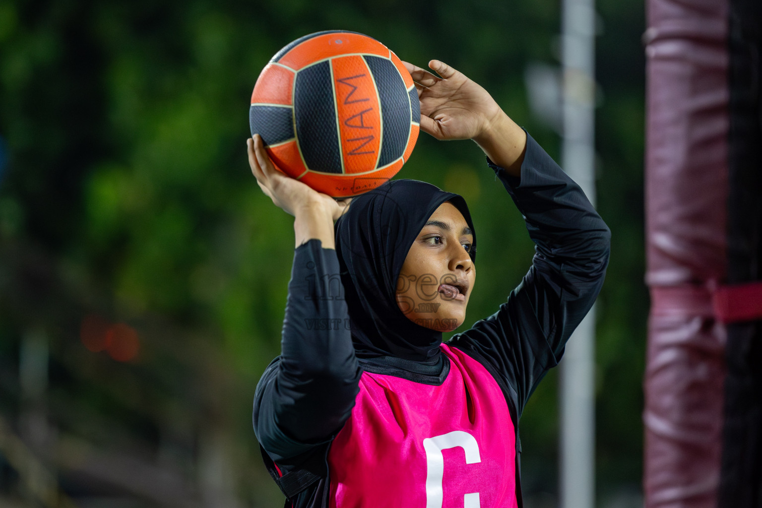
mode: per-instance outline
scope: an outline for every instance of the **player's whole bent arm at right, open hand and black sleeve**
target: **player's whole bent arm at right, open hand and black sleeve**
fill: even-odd
[[[437,139],[473,139],[527,222],[536,255],[501,305],[453,343],[488,359],[523,404],[558,363],[571,331],[603,284],[610,232],[581,188],[484,88],[438,60],[405,63],[421,101],[421,129]],[[475,348],[475,349],[474,349]]]

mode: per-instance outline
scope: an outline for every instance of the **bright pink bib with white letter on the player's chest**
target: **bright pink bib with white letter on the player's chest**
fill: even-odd
[[[363,372],[328,452],[331,508],[516,508],[514,424],[481,363],[442,344],[440,386]]]

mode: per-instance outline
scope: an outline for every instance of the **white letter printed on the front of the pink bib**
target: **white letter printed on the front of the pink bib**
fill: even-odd
[[[460,446],[466,452],[466,464],[482,462],[479,457],[479,443],[471,434],[463,430],[453,430],[441,436],[424,439],[426,450],[426,508],[442,508],[442,476],[444,458],[442,450]],[[479,508],[479,493],[466,494],[463,497],[464,508]]]

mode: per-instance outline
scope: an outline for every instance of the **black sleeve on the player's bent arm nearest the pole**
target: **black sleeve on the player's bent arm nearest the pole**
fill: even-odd
[[[459,337],[488,356],[520,412],[604,283],[610,231],[578,184],[527,136],[520,180],[491,165],[535,243],[532,266],[498,312]]]

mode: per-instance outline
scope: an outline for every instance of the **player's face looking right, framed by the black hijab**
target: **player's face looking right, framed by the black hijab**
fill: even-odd
[[[463,324],[476,280],[472,242],[463,214],[442,203],[413,241],[397,280],[397,304],[411,321],[437,331]]]

